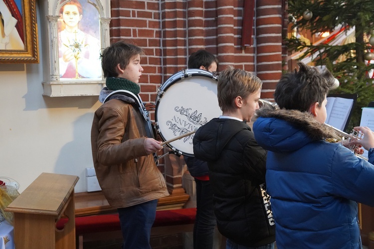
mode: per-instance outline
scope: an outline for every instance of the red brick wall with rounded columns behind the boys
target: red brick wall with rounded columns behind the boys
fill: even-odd
[[[111,0],[110,37],[145,49],[140,80],[145,102],[155,103],[158,87],[187,68],[188,55],[201,48],[218,57],[218,72],[233,65],[256,74],[263,81],[261,98],[272,100],[287,56],[285,4],[256,0],[254,44],[241,47],[244,0]]]

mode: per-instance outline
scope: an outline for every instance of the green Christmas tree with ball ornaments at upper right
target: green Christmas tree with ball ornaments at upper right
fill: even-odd
[[[339,79],[339,88],[330,93],[358,95],[347,130],[360,125],[361,108],[374,101],[374,0],[288,0],[288,13],[295,31],[332,34],[318,44],[298,35],[285,41],[290,51],[303,52],[297,60],[312,58],[311,65],[324,65]],[[332,42],[349,33],[351,40]]]

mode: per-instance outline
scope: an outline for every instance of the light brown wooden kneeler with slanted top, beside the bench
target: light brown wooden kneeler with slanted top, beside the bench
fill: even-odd
[[[79,177],[42,173],[5,211],[14,213],[17,249],[75,249],[74,187]],[[69,218],[62,230],[56,221]]]

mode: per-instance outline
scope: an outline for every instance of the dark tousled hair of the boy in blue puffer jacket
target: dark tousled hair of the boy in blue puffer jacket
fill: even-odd
[[[321,106],[335,78],[330,71],[320,73],[317,68],[297,63],[299,71],[282,75],[274,93],[279,108],[307,112],[318,102]]]

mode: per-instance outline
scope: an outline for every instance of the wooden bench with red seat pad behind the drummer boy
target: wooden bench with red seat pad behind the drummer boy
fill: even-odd
[[[188,199],[189,195],[182,188],[160,198],[152,235],[193,231],[196,208],[183,208]],[[74,203],[79,249],[83,248],[83,242],[122,238],[117,210],[110,207],[101,191],[76,193]],[[66,217],[57,221],[57,230],[63,230],[67,221]]]

